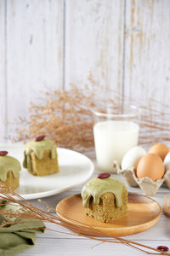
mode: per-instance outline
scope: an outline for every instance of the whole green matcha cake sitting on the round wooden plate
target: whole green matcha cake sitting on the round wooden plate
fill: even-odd
[[[82,204],[88,216],[111,222],[127,215],[127,189],[109,173],[101,173],[82,188]]]

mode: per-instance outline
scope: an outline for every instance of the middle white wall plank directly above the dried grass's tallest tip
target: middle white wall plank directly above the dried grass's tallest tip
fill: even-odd
[[[123,0],[65,2],[65,86],[95,80],[122,93]]]

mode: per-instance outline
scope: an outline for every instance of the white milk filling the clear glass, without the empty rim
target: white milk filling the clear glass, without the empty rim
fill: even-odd
[[[95,152],[99,169],[113,170],[113,161],[120,165],[123,155],[138,144],[139,125],[129,121],[107,120],[94,125]]]

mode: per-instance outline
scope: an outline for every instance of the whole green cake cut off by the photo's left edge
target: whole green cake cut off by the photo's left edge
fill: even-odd
[[[7,154],[0,151],[0,181],[14,190],[19,187],[21,166],[19,160]]]

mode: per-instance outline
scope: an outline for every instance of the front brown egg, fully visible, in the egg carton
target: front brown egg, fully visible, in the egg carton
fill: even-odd
[[[165,169],[161,157],[157,154],[145,154],[137,166],[138,178],[150,177],[153,181],[163,177]]]

